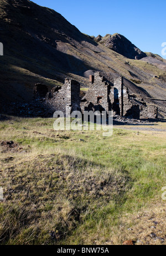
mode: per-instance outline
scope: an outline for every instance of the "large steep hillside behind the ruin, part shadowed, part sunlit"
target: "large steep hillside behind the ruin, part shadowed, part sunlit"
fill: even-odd
[[[52,9],[29,0],[1,0],[0,25],[4,45],[4,56],[0,57],[1,105],[32,99],[35,83],[44,83],[50,90],[68,77],[88,86],[87,74],[92,70],[101,71],[107,79],[123,75],[151,98],[165,99],[165,70],[127,59],[95,42]],[[164,103],[160,104],[163,114]]]

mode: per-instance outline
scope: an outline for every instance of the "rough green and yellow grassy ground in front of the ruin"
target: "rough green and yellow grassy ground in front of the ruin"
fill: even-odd
[[[0,122],[0,243],[165,244],[165,123],[103,137],[53,121]]]

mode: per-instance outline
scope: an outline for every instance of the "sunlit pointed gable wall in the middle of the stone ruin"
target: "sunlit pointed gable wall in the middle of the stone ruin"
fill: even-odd
[[[95,76],[90,75],[90,86],[85,99],[88,103],[94,105],[94,109],[95,106],[101,105],[102,109],[108,112],[111,110],[110,88],[111,85],[105,81],[100,72],[96,72]],[[82,111],[84,111],[84,107]]]

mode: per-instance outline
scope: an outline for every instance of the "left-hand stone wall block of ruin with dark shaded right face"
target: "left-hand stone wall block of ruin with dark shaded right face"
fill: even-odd
[[[52,90],[54,92],[54,89]],[[47,99],[53,111],[80,111],[80,84],[75,80],[65,79],[65,84],[58,91],[52,93],[50,99]]]

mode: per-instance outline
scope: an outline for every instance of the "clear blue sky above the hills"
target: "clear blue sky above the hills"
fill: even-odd
[[[166,42],[165,0],[34,0],[59,12],[82,33],[120,33],[143,50],[162,55]]]

